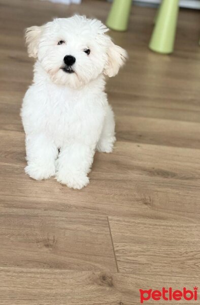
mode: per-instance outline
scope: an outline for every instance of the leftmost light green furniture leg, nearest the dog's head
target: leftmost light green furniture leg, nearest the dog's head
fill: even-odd
[[[106,25],[116,31],[126,31],[132,0],[114,0]]]

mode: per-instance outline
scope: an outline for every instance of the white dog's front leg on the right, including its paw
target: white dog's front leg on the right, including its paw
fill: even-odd
[[[87,177],[93,162],[95,144],[70,142],[61,147],[56,160],[56,178],[69,188],[82,189],[89,183]]]

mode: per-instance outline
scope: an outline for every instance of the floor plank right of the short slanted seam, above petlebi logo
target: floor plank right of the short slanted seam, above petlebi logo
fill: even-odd
[[[109,217],[119,272],[199,277],[200,224]]]

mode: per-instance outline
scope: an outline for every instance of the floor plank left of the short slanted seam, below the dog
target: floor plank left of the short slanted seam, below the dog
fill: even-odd
[[[107,217],[1,209],[0,232],[2,266],[117,271]]]

